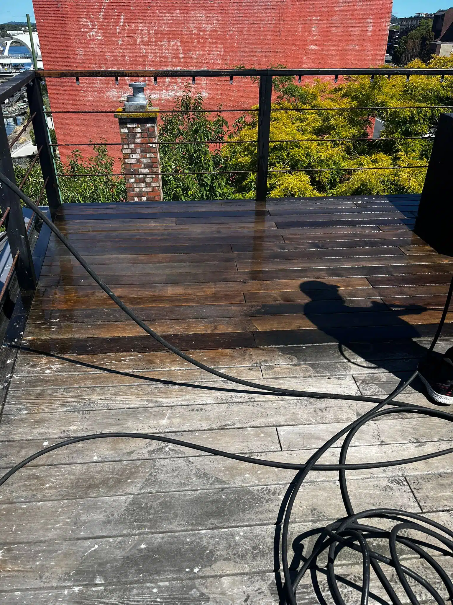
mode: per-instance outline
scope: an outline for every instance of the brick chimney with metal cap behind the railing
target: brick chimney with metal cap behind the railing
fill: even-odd
[[[159,110],[149,108],[145,83],[133,82],[132,95],[115,113],[120,124],[121,148],[128,201],[162,201],[157,118]]]

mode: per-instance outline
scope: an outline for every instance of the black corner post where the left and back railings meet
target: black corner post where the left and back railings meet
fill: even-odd
[[[38,149],[42,146],[39,154],[39,161],[43,179],[46,180],[46,178],[48,178],[46,183],[47,203],[50,208],[52,220],[54,220],[62,200],[60,197],[60,186],[58,183],[53,148],[50,146],[50,131],[44,113],[40,79],[38,77],[31,80],[31,82],[28,82],[27,98],[30,116],[33,116],[34,114],[31,123],[33,124],[36,145]]]

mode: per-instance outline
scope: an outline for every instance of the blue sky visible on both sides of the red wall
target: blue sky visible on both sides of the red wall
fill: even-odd
[[[397,17],[408,17],[414,13],[435,13],[439,8],[449,8],[453,0],[439,3],[440,0],[394,0],[393,14]],[[0,23],[7,21],[25,21],[25,15],[29,13],[34,21],[33,2],[31,0],[1,0]]]

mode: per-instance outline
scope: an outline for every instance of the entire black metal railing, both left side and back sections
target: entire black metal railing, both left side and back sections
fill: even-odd
[[[271,128],[271,114],[277,111],[288,111],[288,112],[344,112],[344,111],[362,111],[362,112],[377,112],[381,110],[385,111],[397,111],[397,110],[416,110],[416,111],[429,111],[429,110],[448,110],[453,106],[453,99],[448,99],[446,105],[407,105],[400,106],[336,106],[336,107],[272,107],[272,91],[273,91],[273,78],[277,76],[291,76],[292,79],[301,82],[302,77],[323,77],[324,79],[330,78],[334,83],[338,82],[339,77],[349,76],[369,76],[370,80],[373,81],[376,76],[387,76],[388,78],[393,76],[406,76],[406,81],[410,80],[411,76],[431,76],[440,78],[440,82],[443,82],[446,76],[453,76],[453,70],[446,69],[406,69],[406,68],[384,68],[384,69],[266,69],[266,70],[91,70],[91,71],[27,71],[19,74],[16,77],[9,79],[7,82],[0,83],[0,104],[4,103],[5,100],[10,99],[21,91],[23,88],[27,91],[27,99],[30,111],[30,118],[22,125],[21,131],[14,136],[12,142],[8,142],[7,134],[5,131],[4,120],[0,105],[0,172],[7,175],[10,180],[15,182],[14,179],[14,167],[13,161],[10,155],[10,148],[14,143],[19,140],[22,133],[30,126],[33,126],[34,137],[36,139],[37,154],[34,156],[31,165],[28,167],[28,171],[25,172],[22,178],[20,187],[22,188],[27,178],[30,177],[30,173],[34,166],[39,162],[40,170],[42,172],[42,186],[39,188],[39,194],[36,195],[36,199],[39,202],[45,192],[48,206],[50,207],[51,217],[54,218],[56,212],[62,203],[61,191],[59,186],[59,178],[77,178],[77,177],[91,177],[91,176],[103,176],[98,172],[92,174],[88,171],[83,174],[77,174],[74,172],[68,174],[67,172],[61,172],[57,170],[57,164],[54,157],[57,147],[76,147],[79,146],[93,146],[93,145],[121,145],[119,142],[63,142],[63,143],[52,143],[50,138],[50,131],[48,128],[47,114],[114,114],[115,110],[78,110],[72,108],[65,108],[64,110],[46,110],[43,105],[43,97],[41,90],[41,82],[43,79],[51,80],[56,78],[69,78],[74,79],[77,85],[83,86],[85,79],[103,78],[103,79],[114,79],[118,85],[121,79],[152,79],[152,82],[156,85],[159,79],[187,79],[188,83],[196,82],[198,78],[216,78],[226,79],[226,82],[233,83],[235,78],[252,78],[259,82],[258,91],[258,106],[248,108],[217,108],[217,109],[193,109],[189,110],[193,113],[199,111],[200,113],[209,114],[215,113],[226,113],[226,114],[238,114],[238,113],[250,113],[256,116],[257,123],[257,138],[256,139],[245,139],[245,140],[175,140],[175,141],[158,141],[157,145],[169,146],[169,145],[256,145],[257,160],[255,167],[250,167],[246,170],[213,170],[213,171],[187,171],[187,172],[160,172],[162,176],[183,176],[187,175],[198,175],[198,174],[255,174],[255,199],[257,201],[266,200],[268,194],[268,176],[275,172],[307,172],[312,174],[314,172],[333,172],[333,171],[390,171],[398,169],[425,169],[426,165],[417,166],[406,166],[406,165],[393,165],[393,166],[352,166],[350,168],[336,168],[336,167],[307,167],[307,168],[280,168],[280,167],[269,167],[269,148],[272,145],[280,145],[285,143],[287,145],[297,145],[302,142],[307,143],[318,143],[320,145],[326,142],[368,142],[370,145],[378,145],[379,142],[385,141],[399,141],[399,140],[431,140],[434,138],[431,132],[423,134],[423,136],[385,136],[380,139],[373,139],[371,137],[320,137],[316,138],[313,136],[309,137],[297,137],[294,139],[270,138]],[[120,95],[118,95],[118,104],[120,102]],[[240,103],[238,103],[240,105]],[[161,114],[176,114],[185,113],[186,110],[161,110]],[[370,114],[368,114],[370,115]],[[105,173],[105,176],[124,176],[123,172],[109,172]],[[33,231],[34,221],[30,221],[28,228],[25,228],[24,216],[22,214],[21,203],[16,195],[13,194],[7,188],[2,187],[0,189],[0,203],[3,216],[3,226],[6,229],[8,237],[8,243],[10,244],[12,258],[15,259],[14,267],[16,275],[18,276],[19,286],[22,292],[33,291],[36,287],[36,276],[34,275],[33,262],[31,260],[31,251],[28,236]],[[1,236],[0,236],[1,239]]]

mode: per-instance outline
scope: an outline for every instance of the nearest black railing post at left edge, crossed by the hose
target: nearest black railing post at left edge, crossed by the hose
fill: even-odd
[[[13,160],[11,160],[8,136],[6,134],[3,111],[0,105],[0,172],[8,177],[13,183],[14,177]],[[31,257],[30,243],[25,229],[24,214],[22,213],[21,200],[6,185],[0,183],[0,206],[2,215],[9,208],[5,221],[8,243],[11,255],[14,258],[19,252],[16,263],[16,276],[18,278],[21,293],[30,296],[36,289],[36,275],[34,273],[33,258]]]

